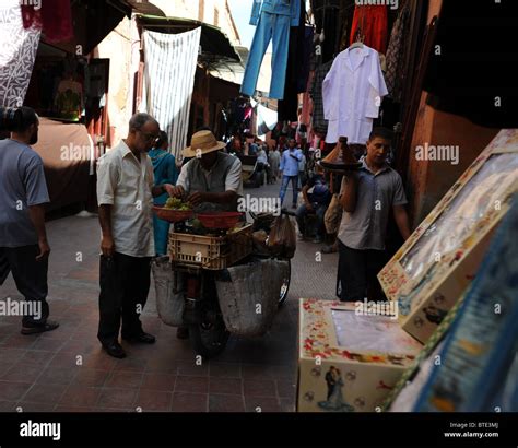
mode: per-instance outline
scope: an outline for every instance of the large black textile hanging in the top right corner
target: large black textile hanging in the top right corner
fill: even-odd
[[[490,11],[472,0],[445,1],[434,45],[423,80],[428,106],[482,127],[518,128],[516,70],[510,69],[518,60],[516,1]]]

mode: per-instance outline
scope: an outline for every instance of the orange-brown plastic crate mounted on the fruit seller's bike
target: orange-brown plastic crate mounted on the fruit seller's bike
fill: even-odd
[[[221,270],[244,259],[252,251],[251,224],[226,236],[201,236],[170,233],[170,261]]]

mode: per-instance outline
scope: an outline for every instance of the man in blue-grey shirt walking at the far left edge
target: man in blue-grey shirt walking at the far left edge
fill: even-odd
[[[49,202],[42,157],[31,145],[38,141],[39,120],[21,107],[21,123],[0,141],[0,285],[12,273],[27,306],[22,334],[55,330],[48,320],[47,272],[50,247],[44,204]]]

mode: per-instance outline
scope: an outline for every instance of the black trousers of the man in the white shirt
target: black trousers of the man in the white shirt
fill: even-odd
[[[150,292],[151,257],[117,254],[101,256],[99,328],[103,344],[116,341],[122,320],[122,338],[142,332],[139,315]]]

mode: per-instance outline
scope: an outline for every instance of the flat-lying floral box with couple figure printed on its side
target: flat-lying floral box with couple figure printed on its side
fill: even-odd
[[[298,412],[375,412],[422,350],[397,319],[301,299]]]

